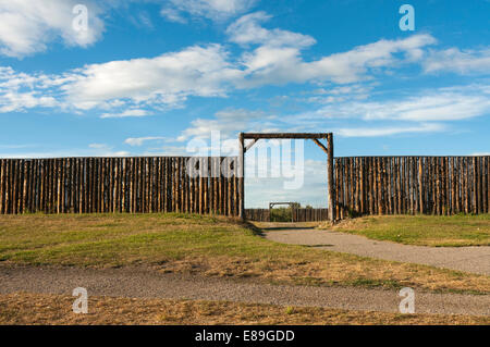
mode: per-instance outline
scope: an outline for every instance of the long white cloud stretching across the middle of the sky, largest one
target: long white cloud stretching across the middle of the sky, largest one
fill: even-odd
[[[230,26],[229,34],[237,41],[261,44],[253,51],[245,51],[238,60],[232,60],[230,52],[221,45],[193,46],[156,58],[86,65],[66,73],[60,88],[66,103],[79,110],[110,109],[114,102],[132,109],[146,106],[164,110],[181,107],[189,96],[224,97],[234,88],[366,79],[371,69],[400,63],[395,53],[403,53],[404,61],[412,62],[418,50],[434,41],[428,35],[380,40],[305,62],[299,49],[315,40],[286,30],[261,29],[257,22],[267,17],[264,13],[245,16]],[[260,33],[258,36],[250,34],[256,30]],[[106,116],[117,114],[108,112]]]

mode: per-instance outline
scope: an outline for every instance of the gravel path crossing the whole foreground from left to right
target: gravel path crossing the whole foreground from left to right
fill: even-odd
[[[186,298],[236,302],[311,306],[397,312],[395,290],[356,287],[306,287],[162,274],[146,269],[0,267],[0,294],[16,292],[69,294],[85,287],[88,295],[134,298]],[[490,315],[490,296],[416,293],[417,313]]]

